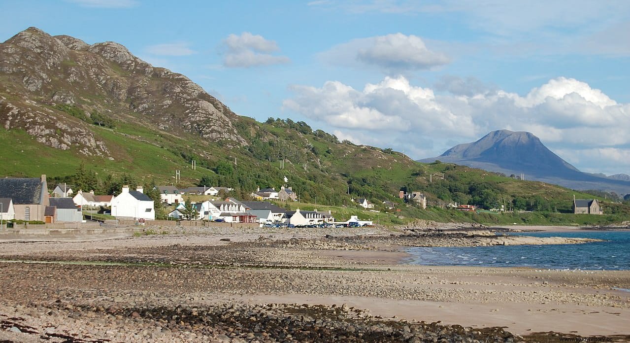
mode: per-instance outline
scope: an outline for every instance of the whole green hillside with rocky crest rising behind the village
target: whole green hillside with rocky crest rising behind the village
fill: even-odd
[[[401,212],[383,215],[390,224],[484,218],[440,209],[451,202],[563,213],[574,195],[593,197],[449,163],[418,163],[391,149],[340,142],[305,122],[240,117],[185,76],[152,67],[112,42],[88,45],[29,28],[0,44],[0,52],[4,176],[47,174],[51,187],[67,182],[100,194],[125,183],[222,186],[241,199],[256,187],[278,189],[287,177],[305,206],[331,206],[340,214],[352,197],[398,202]],[[399,190],[427,194],[430,211],[404,206]],[[616,216],[628,207],[604,203],[607,208]]]

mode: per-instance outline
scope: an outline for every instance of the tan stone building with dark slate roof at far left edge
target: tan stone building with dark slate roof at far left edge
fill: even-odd
[[[50,196],[46,175],[41,178],[0,178],[0,198],[13,201],[14,219],[44,221]]]

